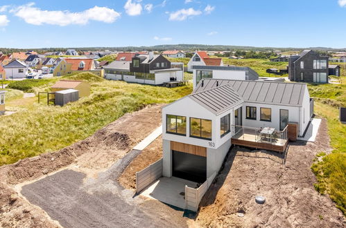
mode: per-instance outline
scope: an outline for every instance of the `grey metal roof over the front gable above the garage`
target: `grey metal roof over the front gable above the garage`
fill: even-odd
[[[189,97],[216,115],[243,103],[243,98],[230,84],[202,90],[189,95]]]

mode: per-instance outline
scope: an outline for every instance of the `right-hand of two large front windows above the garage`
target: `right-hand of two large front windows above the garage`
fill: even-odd
[[[211,120],[190,118],[190,136],[211,140]]]

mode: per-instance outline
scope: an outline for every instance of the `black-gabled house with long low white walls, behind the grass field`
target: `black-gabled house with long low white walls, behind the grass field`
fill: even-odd
[[[105,78],[161,85],[165,82],[182,81],[182,68],[172,68],[171,61],[162,55],[135,55],[132,61],[112,61],[105,69]]]

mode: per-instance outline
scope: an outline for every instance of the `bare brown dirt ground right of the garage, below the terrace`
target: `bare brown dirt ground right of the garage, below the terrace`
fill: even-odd
[[[286,164],[256,158],[235,147],[216,182],[205,194],[196,223],[202,227],[346,227],[329,196],[315,191],[311,164],[315,155],[330,153],[327,122],[322,120],[316,142],[291,143]],[[266,157],[266,156],[263,156]],[[266,197],[259,205],[255,196]],[[237,213],[243,213],[243,217]],[[211,219],[212,218],[212,219]]]

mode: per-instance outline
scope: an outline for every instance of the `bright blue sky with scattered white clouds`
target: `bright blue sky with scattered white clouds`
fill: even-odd
[[[0,0],[1,48],[346,48],[346,0]]]

